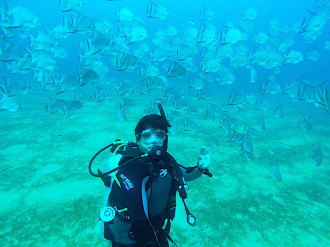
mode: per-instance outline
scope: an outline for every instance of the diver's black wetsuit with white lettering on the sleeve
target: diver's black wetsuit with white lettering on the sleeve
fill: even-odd
[[[137,148],[126,153],[119,162],[123,164],[141,155]],[[185,181],[202,175],[197,167],[180,166]],[[119,168],[113,183],[108,205],[115,209],[113,221],[104,223],[104,237],[120,246],[166,246],[160,237],[164,221],[168,218],[168,205],[175,198],[175,170],[166,159],[151,161],[149,157],[132,161]],[[162,238],[162,240],[159,240]],[[119,246],[119,245],[117,245]]]

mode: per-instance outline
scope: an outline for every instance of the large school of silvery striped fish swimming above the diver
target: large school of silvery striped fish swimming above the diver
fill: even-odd
[[[46,110],[50,114],[63,111],[66,117],[79,114],[87,102],[106,104],[117,94],[123,102],[118,102],[114,115],[125,121],[127,110],[139,104],[133,99],[135,94],[159,97],[165,108],[183,109],[181,113],[186,117],[181,125],[186,131],[197,133],[202,120],[216,120],[214,126],[227,133],[229,145],[238,147],[240,155],[247,160],[254,157],[251,139],[259,133],[251,123],[246,123],[245,133],[234,130],[234,121],[224,113],[239,112],[247,104],[254,104],[258,116],[272,110],[276,117],[282,118],[281,102],[273,106],[265,95],[284,93],[292,103],[305,101],[328,114],[327,78],[316,81],[300,73],[294,82],[277,81],[277,78],[282,66],[297,66],[305,60],[316,62],[322,53],[330,50],[329,40],[322,36],[328,24],[329,1],[323,1],[323,5],[315,1],[316,8],[306,11],[304,18],[294,23],[284,23],[271,12],[267,20],[258,20],[267,22],[262,30],[254,27],[257,6],[244,5],[239,19],[216,23],[212,20],[221,13],[198,5],[199,11],[186,22],[158,28],[148,24],[148,20],[162,23],[170,19],[171,9],[166,2],[143,1],[144,15],[138,16],[129,6],[104,0],[109,14],[103,17],[88,15],[84,2],[88,1],[60,0],[58,17],[62,23],[47,26],[28,8],[2,2],[0,64],[7,76],[1,77],[1,109],[24,110],[14,97],[28,94],[35,87],[53,91],[50,103],[48,98],[44,99]],[[77,71],[70,74],[59,69],[59,64],[69,60],[63,45],[68,38],[79,41]],[[295,46],[301,39],[304,50]],[[323,45],[315,47],[318,39],[324,40]],[[236,71],[241,68],[249,71],[249,77],[237,81]],[[265,71],[266,76],[261,78]],[[25,82],[19,75],[33,76],[33,81]],[[139,81],[132,81],[131,77]],[[178,79],[182,86],[175,85]],[[260,83],[260,91],[245,93],[233,89],[221,105],[214,96],[214,86],[228,90],[240,83]],[[162,93],[155,89],[161,89]],[[72,100],[61,99],[61,95],[70,91],[75,95]],[[200,109],[194,103],[200,99],[211,99],[212,103],[207,109]],[[152,112],[154,107],[151,101],[144,113]],[[189,119],[196,112],[203,112],[199,122]],[[303,118],[297,127],[310,130],[308,120]],[[175,117],[172,121],[176,121]],[[262,131],[265,121],[261,115],[258,125]],[[177,131],[173,129],[173,133]],[[216,146],[214,138],[209,137],[207,142]]]

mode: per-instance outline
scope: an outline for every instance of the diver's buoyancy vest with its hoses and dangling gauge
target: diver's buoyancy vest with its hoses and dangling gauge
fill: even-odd
[[[104,150],[106,150],[109,147],[111,147],[111,152],[113,152],[112,157],[110,157],[107,162],[107,170],[109,170],[109,171],[102,173],[100,170],[97,170],[97,174],[94,174],[91,169],[92,162],[97,157],[97,155],[99,155],[101,152],[103,152]],[[125,157],[123,158],[123,156],[125,156]],[[162,147],[159,147],[159,146],[155,146],[154,149],[151,150],[150,153],[141,155],[141,152],[138,150],[138,146],[135,143],[121,142],[120,140],[116,140],[114,143],[109,144],[106,147],[99,150],[91,158],[89,165],[88,165],[88,171],[89,171],[90,175],[92,175],[94,177],[100,177],[106,187],[105,192],[104,192],[103,209],[100,211],[100,214],[99,214],[99,219],[104,222],[104,224],[102,224],[101,239],[103,239],[106,242],[108,242],[108,240],[113,239],[114,236],[111,235],[111,233],[110,233],[110,234],[108,234],[108,237],[105,237],[106,236],[106,234],[105,234],[106,229],[104,228],[105,225],[111,225],[111,224],[113,224],[113,221],[116,221],[115,219],[118,219],[118,217],[116,217],[114,219],[114,217],[116,215],[116,211],[113,208],[109,207],[109,205],[107,203],[107,201],[108,201],[107,198],[111,191],[114,181],[117,184],[119,184],[119,182],[115,179],[116,177],[113,175],[115,175],[115,173],[117,172],[117,170],[120,167],[127,166],[127,165],[129,166],[129,164],[131,164],[133,161],[143,160],[144,157],[147,157],[147,156],[151,156],[155,160],[160,159],[159,157],[162,157],[162,160],[164,162],[167,162],[168,164],[170,164],[171,169],[168,169],[168,170],[172,172],[171,175],[172,175],[172,179],[173,179],[171,191],[169,193],[169,197],[168,197],[168,201],[167,201],[166,210],[164,210],[164,212],[158,216],[159,217],[158,219],[156,219],[156,220],[152,219],[152,223],[153,223],[152,225],[154,225],[156,228],[158,228],[156,226],[156,225],[158,225],[156,222],[163,224],[163,219],[172,220],[174,218],[175,206],[176,206],[176,201],[175,201],[175,191],[176,190],[179,192],[179,196],[182,199],[184,209],[186,212],[187,223],[190,226],[195,225],[195,217],[189,212],[189,210],[184,202],[184,199],[187,197],[186,192],[185,192],[186,185],[185,185],[182,171],[181,171],[179,165],[177,164],[177,162],[175,161],[175,159],[169,153],[164,151],[164,149]],[[119,161],[121,161],[120,166],[117,166],[117,164],[119,165]],[[115,167],[115,166],[117,166],[117,167]],[[146,165],[146,167],[148,167],[148,165]],[[150,171],[150,175],[151,175],[150,178],[152,178],[153,171],[152,171],[152,169],[150,169],[149,171]],[[112,175],[112,177],[108,176],[108,175]],[[152,179],[150,181],[152,181]],[[122,213],[122,212],[117,211],[117,214],[118,213]],[[162,236],[165,236],[166,238],[171,240],[168,236],[168,232],[169,232],[169,228],[170,228],[169,220],[167,221],[165,229],[164,230],[160,229],[159,233],[161,233]],[[128,224],[126,223],[125,225],[129,226],[129,223]],[[129,243],[129,244],[131,244],[131,243]]]

